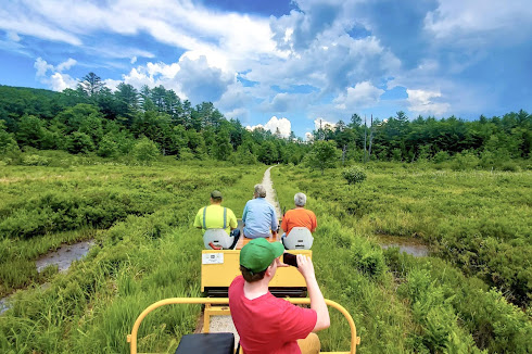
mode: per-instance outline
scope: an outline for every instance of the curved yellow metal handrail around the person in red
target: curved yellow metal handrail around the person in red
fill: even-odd
[[[292,298],[286,298],[284,300],[289,301],[290,303],[294,305],[309,305],[311,304],[311,299],[305,298],[305,299],[292,299]],[[337,308],[346,319],[347,323],[350,324],[351,328],[351,351],[350,352],[331,352],[332,353],[351,353],[355,354],[356,353],[356,345],[360,344],[360,338],[356,337],[356,326],[355,321],[353,320],[353,317],[351,317],[350,313],[339,303],[328,300],[325,300],[325,303],[328,306]],[[144,317],[154,311],[155,308],[159,308],[164,305],[172,305],[172,304],[214,304],[214,305],[227,305],[229,304],[229,299],[228,298],[169,298],[169,299],[164,299],[161,301],[157,301],[150,306],[148,306],[140,315],[137,317],[137,320],[134,324],[132,330],[130,334],[127,334],[127,342],[130,343],[130,353],[131,354],[137,354],[137,334],[139,331],[140,324],[144,319]]]

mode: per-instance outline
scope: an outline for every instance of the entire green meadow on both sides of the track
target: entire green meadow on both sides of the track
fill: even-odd
[[[0,316],[2,353],[127,353],[126,336],[148,305],[201,296],[201,232],[192,228],[220,189],[240,216],[265,165],[162,159],[152,166],[93,160],[2,166]],[[303,191],[318,217],[313,257],[325,296],[352,314],[358,353],[532,352],[532,172],[434,169],[369,163],[350,186],[342,169],[271,170],[282,207]],[[379,236],[416,238],[431,256],[383,251]],[[34,262],[63,243],[94,240],[65,274]],[[46,285],[46,286],[43,286]],[[142,352],[173,352],[199,306],[148,316]],[[349,349],[331,309],[322,350]]]

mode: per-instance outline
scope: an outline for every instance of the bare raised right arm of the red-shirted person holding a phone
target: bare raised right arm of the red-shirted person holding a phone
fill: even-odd
[[[313,332],[329,328],[329,308],[327,308],[321,290],[319,290],[312,260],[303,254],[297,254],[297,270],[300,270],[305,278],[306,290],[308,292],[308,298],[311,298],[311,308],[318,315]]]

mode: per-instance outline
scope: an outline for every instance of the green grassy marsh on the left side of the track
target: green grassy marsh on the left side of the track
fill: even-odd
[[[0,321],[2,353],[125,353],[149,304],[200,296],[201,233],[192,222],[218,188],[241,214],[264,166],[170,163],[152,167],[4,167],[0,176],[0,277],[17,293]],[[65,231],[68,230],[68,231]],[[33,261],[62,242],[94,238],[66,275]],[[48,280],[46,289],[38,285]],[[139,349],[172,351],[199,306],[169,306],[140,328]]]

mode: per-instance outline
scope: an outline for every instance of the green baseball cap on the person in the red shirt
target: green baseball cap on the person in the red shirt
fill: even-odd
[[[284,253],[281,242],[268,242],[264,238],[253,239],[240,251],[240,265],[257,274]]]

